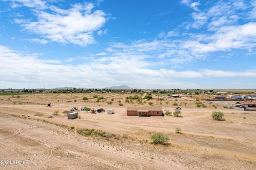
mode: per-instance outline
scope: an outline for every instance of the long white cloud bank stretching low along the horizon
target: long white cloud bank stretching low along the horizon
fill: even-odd
[[[168,69],[151,69],[155,63],[143,60],[139,56],[118,53],[113,54],[112,57],[100,58],[97,62],[86,61],[85,67],[83,63],[64,65],[58,61],[39,60],[34,55],[23,56],[10,48],[0,46],[0,60],[2,61],[0,83],[7,82],[8,86],[19,88],[25,84],[34,87],[41,87],[44,84],[46,87],[102,88],[109,85],[127,84],[137,88],[198,88],[200,85],[197,83],[182,83],[182,81],[194,78],[256,78],[255,70],[178,72]]]

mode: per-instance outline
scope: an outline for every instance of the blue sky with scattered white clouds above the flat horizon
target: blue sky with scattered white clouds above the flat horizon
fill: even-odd
[[[0,88],[255,88],[254,0],[0,3]]]

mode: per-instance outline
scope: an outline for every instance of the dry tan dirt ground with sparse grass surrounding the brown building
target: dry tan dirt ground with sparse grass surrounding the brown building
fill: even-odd
[[[182,107],[182,117],[126,116],[125,94],[35,94],[0,96],[0,159],[26,160],[28,165],[0,165],[0,169],[256,169],[256,112],[196,107],[198,96],[143,100],[163,110]],[[86,96],[89,100],[82,100]],[[113,104],[108,105],[108,101]],[[76,100],[76,102],[74,101]],[[119,101],[120,100],[120,101]],[[45,104],[51,103],[52,107]],[[119,106],[122,103],[124,106]],[[114,108],[115,114],[79,111],[81,118],[67,120],[70,107]],[[53,115],[59,111],[59,115]],[[226,121],[214,121],[213,111]],[[52,117],[52,118],[49,118]],[[44,121],[42,121],[44,120]],[[61,128],[54,124],[66,125]],[[65,127],[66,127],[65,126]],[[99,129],[120,137],[106,140],[84,137],[74,128]],[[182,133],[175,133],[175,128]],[[169,136],[169,146],[150,144],[155,132]]]

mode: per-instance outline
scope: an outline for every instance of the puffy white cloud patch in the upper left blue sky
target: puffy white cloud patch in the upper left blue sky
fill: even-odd
[[[50,6],[51,12],[35,10],[36,21],[16,19],[27,31],[58,43],[86,46],[95,43],[93,32],[106,22],[103,11],[92,11],[93,4],[75,4],[69,10]]]

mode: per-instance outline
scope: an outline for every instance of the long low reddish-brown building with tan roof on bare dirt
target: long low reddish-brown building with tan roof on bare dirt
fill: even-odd
[[[163,116],[162,106],[127,107],[127,116]]]

